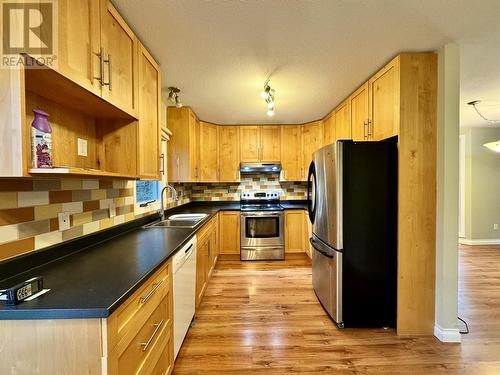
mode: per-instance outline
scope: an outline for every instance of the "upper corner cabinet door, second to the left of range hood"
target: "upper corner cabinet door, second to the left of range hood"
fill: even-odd
[[[200,122],[200,181],[217,182],[217,125]]]

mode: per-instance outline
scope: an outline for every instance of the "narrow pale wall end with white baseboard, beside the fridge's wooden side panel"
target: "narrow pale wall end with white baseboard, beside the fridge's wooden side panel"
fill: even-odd
[[[436,323],[441,341],[460,342],[458,311],[458,140],[460,50],[438,51]]]

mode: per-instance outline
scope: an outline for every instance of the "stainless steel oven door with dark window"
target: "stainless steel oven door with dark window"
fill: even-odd
[[[283,244],[282,212],[241,214],[241,247],[279,247]]]

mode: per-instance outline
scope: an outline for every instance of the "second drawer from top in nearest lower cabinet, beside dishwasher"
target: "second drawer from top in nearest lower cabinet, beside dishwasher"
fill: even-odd
[[[109,356],[110,374],[151,374],[164,356],[172,336],[172,316],[169,297],[164,298],[149,319],[121,350],[119,346]]]

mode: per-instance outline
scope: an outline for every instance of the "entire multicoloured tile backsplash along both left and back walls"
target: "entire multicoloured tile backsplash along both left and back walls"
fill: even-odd
[[[133,180],[81,178],[0,179],[0,261],[139,218],[160,208],[135,206]],[[236,201],[243,190],[279,191],[281,199],[305,199],[304,182],[279,182],[278,175],[245,175],[239,183],[176,184],[179,201]],[[116,216],[109,217],[109,204]],[[70,213],[60,231],[58,214]]]

